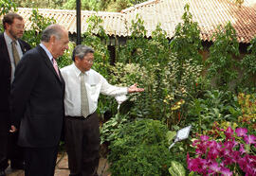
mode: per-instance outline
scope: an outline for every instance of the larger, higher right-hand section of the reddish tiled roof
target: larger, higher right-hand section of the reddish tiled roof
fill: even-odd
[[[241,7],[231,0],[150,0],[121,12],[129,23],[138,13],[144,20],[148,37],[160,23],[172,38],[175,26],[182,22],[186,3],[190,5],[192,20],[198,23],[204,41],[210,41],[217,26],[225,26],[229,21],[240,43],[249,43],[256,36],[256,0],[245,0]]]

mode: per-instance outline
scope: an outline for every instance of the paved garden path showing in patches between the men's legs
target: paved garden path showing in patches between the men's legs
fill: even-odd
[[[111,174],[107,171],[108,163],[105,158],[100,159],[100,165],[98,168],[99,176],[110,176]],[[68,176],[69,169],[67,167],[67,155],[65,152],[58,154],[57,166],[55,168],[55,176]],[[12,170],[10,167],[7,168],[7,176],[24,176],[23,170]]]

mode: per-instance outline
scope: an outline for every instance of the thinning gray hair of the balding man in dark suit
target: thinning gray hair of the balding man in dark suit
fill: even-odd
[[[46,29],[43,31],[41,42],[48,43],[52,35],[55,36],[58,40],[60,40],[63,37],[63,31],[64,26],[56,24],[47,26]]]

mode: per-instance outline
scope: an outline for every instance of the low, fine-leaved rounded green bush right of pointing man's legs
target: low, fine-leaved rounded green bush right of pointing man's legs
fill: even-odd
[[[126,124],[110,145],[111,175],[167,175],[171,166],[165,134],[166,126],[143,119]],[[129,161],[129,162],[128,162]]]

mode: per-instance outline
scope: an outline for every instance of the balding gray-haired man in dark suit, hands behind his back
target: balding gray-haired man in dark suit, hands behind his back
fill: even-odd
[[[26,176],[52,176],[64,121],[64,79],[55,61],[68,49],[63,26],[47,26],[27,51],[12,83],[11,130],[25,149]]]

